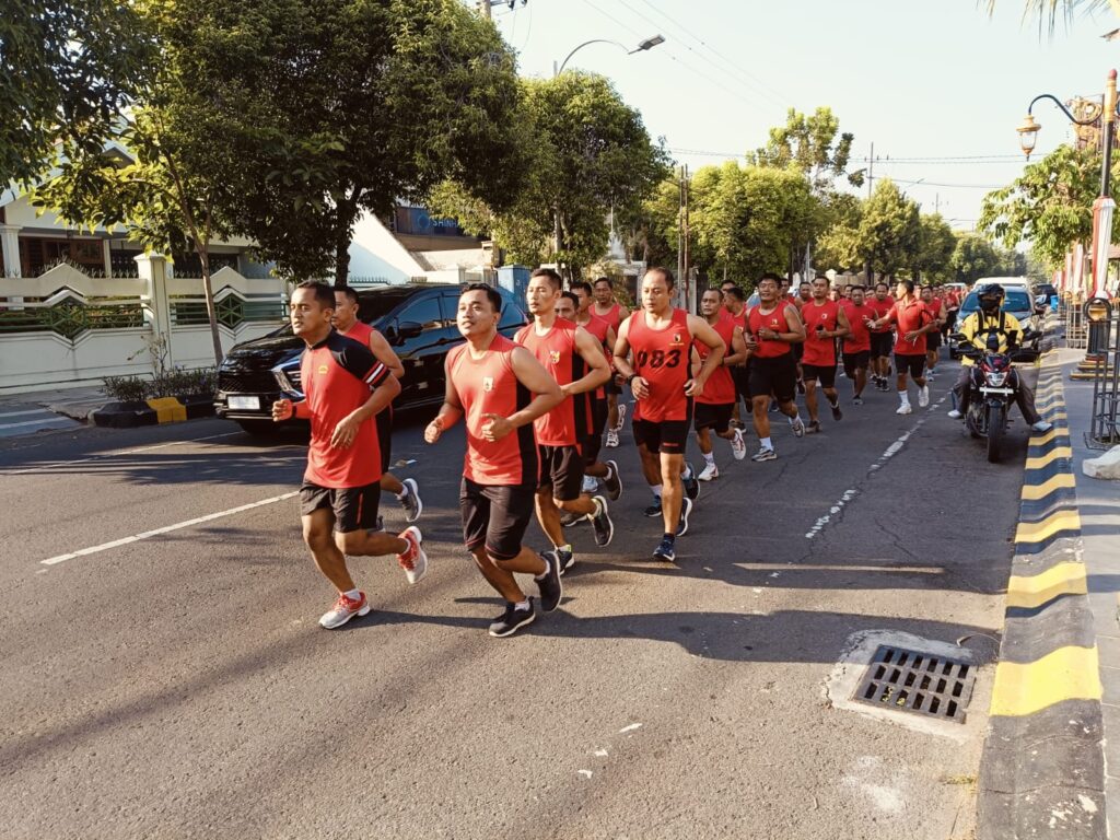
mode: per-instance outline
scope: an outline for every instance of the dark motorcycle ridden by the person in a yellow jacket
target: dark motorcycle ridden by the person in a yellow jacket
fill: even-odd
[[[1024,343],[1038,337],[1035,330],[1023,334]],[[1007,353],[1000,353],[1000,339],[996,334],[988,336],[988,346],[978,348],[969,343],[960,333],[954,334],[958,352],[973,361],[969,380],[969,410],[964,414],[964,424],[973,438],[987,438],[988,461],[998,464],[1002,454],[1004,437],[1008,427],[1008,410],[1016,400],[1019,390],[1019,374],[1011,366],[1012,362],[1034,362],[1038,351],[1016,346],[1017,334],[1009,336]]]

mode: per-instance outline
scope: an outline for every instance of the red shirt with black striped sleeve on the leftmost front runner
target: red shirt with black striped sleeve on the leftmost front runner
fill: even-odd
[[[311,416],[304,480],[332,489],[381,480],[381,449],[372,417],[358,427],[347,449],[330,446],[330,436],[343,418],[365,404],[370,392],[390,376],[389,370],[364,344],[334,329],[304,351],[299,368]]]

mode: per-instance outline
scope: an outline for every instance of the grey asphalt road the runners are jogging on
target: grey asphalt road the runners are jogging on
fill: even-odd
[[[624,436],[614,543],[572,530],[561,609],[510,640],[487,636],[501,606],[460,542],[461,429],[426,447],[430,412],[393,456],[416,460],[398,473],[421,486],[429,576],[352,561],[374,612],[334,633],[287,495],[298,436],[0,441],[0,834],[969,837],[1027,432],[988,465],[939,403],[951,367],[908,417],[893,394],[848,407],[841,379],[844,420],[800,441],[775,424],[776,461],[719,441],[675,568],[650,558]],[[833,706],[872,629],[988,663],[968,722]]]

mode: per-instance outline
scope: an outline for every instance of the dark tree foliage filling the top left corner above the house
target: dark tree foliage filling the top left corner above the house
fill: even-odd
[[[101,148],[150,59],[131,3],[6,0],[0,185],[32,183],[58,141]]]

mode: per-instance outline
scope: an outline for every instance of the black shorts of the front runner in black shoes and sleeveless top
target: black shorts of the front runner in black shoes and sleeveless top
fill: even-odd
[[[534,497],[530,484],[484,485],[464,476],[459,486],[464,544],[470,551],[485,547],[495,560],[513,560],[533,519]]]

